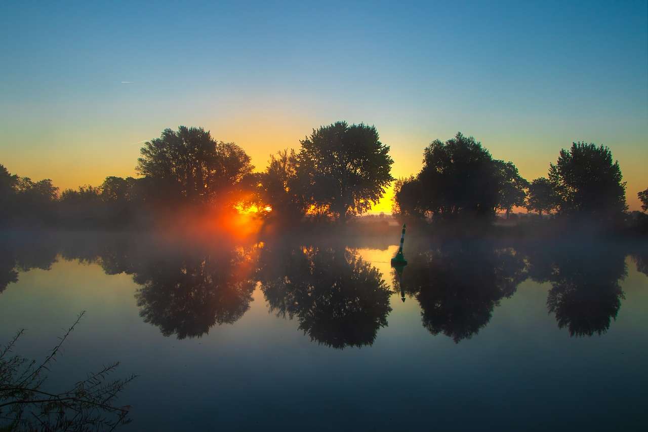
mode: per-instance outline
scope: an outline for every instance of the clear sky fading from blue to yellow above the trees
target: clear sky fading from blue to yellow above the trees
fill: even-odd
[[[98,3],[98,2],[97,2]],[[61,189],[135,175],[144,141],[202,126],[260,171],[338,120],[395,177],[457,131],[522,176],[573,141],[648,187],[647,1],[3,2],[0,163]],[[388,195],[374,211],[391,209]]]

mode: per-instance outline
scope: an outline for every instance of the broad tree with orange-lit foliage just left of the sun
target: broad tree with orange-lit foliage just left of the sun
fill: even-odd
[[[234,193],[254,168],[238,145],[215,141],[203,128],[165,129],[140,152],[137,173],[165,180],[170,193],[191,202],[210,202]]]

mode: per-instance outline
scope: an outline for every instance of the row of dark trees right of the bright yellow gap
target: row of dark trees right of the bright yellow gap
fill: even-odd
[[[547,177],[529,182],[513,162],[495,160],[481,143],[458,133],[432,141],[416,176],[395,184],[394,213],[412,217],[461,219],[507,216],[514,207],[614,223],[628,206],[618,161],[603,145],[573,143],[551,163]],[[639,193],[647,209],[648,189]]]

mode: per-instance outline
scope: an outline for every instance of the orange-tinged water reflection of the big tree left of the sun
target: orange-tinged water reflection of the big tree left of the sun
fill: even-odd
[[[257,247],[214,244],[121,237],[75,250],[78,259],[98,263],[106,274],[132,274],[141,285],[135,300],[143,320],[165,336],[185,339],[233,324],[252,301]]]

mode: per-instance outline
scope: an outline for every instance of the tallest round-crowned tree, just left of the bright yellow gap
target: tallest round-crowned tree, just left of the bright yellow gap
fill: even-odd
[[[297,174],[309,204],[337,217],[364,213],[393,181],[393,160],[375,126],[338,121],[301,141]]]

